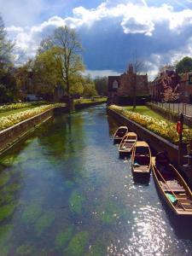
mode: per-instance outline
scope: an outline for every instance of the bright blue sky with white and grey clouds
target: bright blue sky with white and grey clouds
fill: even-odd
[[[93,77],[124,73],[135,56],[153,79],[161,66],[192,57],[192,0],[0,0],[0,15],[23,60],[56,27],[74,28]]]

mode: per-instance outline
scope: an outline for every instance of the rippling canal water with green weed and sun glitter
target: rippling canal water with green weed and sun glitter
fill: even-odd
[[[105,106],[61,114],[0,160],[0,255],[191,255],[192,218],[135,183]]]

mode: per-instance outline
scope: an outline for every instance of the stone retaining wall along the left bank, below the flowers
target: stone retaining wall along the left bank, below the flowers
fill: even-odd
[[[26,119],[19,124],[0,131],[0,154],[20,141],[20,139],[25,137],[29,132],[33,131],[37,125],[51,118],[55,112],[64,112],[65,110],[65,107],[50,108],[44,113],[39,113],[30,119]]]

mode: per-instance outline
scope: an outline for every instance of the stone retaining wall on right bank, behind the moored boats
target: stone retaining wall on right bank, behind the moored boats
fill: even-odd
[[[137,136],[142,140],[146,141],[151,148],[155,151],[166,150],[169,154],[172,163],[177,165],[178,160],[178,146],[168,142],[166,139],[154,134],[152,131],[148,131],[148,129],[144,128],[142,125],[138,125],[136,122],[131,119],[125,118],[120,113],[115,112],[112,109],[108,109],[108,113],[113,116],[116,120],[119,121],[121,125],[127,125],[127,127],[131,131],[135,131]]]

